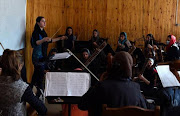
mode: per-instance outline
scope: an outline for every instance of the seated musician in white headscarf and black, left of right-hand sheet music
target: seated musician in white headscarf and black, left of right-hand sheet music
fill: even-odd
[[[156,81],[157,81],[157,71],[154,68],[154,60],[152,58],[148,59],[147,65],[143,74],[139,74],[138,78],[143,82],[140,82],[141,90],[145,96],[155,97]],[[143,70],[143,69],[142,69]]]

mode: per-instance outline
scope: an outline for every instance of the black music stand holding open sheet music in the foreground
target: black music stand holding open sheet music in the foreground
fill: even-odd
[[[80,102],[81,96],[90,87],[90,80],[90,74],[82,71],[47,72],[44,94],[50,104],[68,104],[70,116],[71,104]]]

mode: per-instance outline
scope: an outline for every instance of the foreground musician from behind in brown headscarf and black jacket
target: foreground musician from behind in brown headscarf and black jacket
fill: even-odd
[[[133,60],[129,53],[118,52],[108,78],[91,87],[82,96],[79,108],[95,110],[94,116],[100,116],[102,104],[113,108],[129,105],[147,108],[139,85],[131,81],[132,65]]]

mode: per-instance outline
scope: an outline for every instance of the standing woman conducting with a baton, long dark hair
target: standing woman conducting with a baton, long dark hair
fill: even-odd
[[[66,39],[66,36],[58,37],[58,38],[50,38],[47,36],[46,31],[44,30],[46,26],[46,20],[42,16],[38,16],[36,18],[36,24],[34,26],[34,31],[32,33],[31,45],[34,48],[32,53],[32,62],[34,65],[34,74],[32,77],[31,87],[34,84],[38,87],[38,91],[36,96],[39,97],[41,95],[40,89],[43,90],[43,77],[44,71],[46,68],[45,60],[47,59],[47,48],[48,44],[52,42],[56,42],[59,40]]]

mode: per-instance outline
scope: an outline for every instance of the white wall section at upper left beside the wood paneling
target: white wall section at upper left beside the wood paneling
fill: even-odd
[[[26,0],[0,0],[0,42],[4,48],[25,47]],[[3,49],[0,46],[0,55]]]

